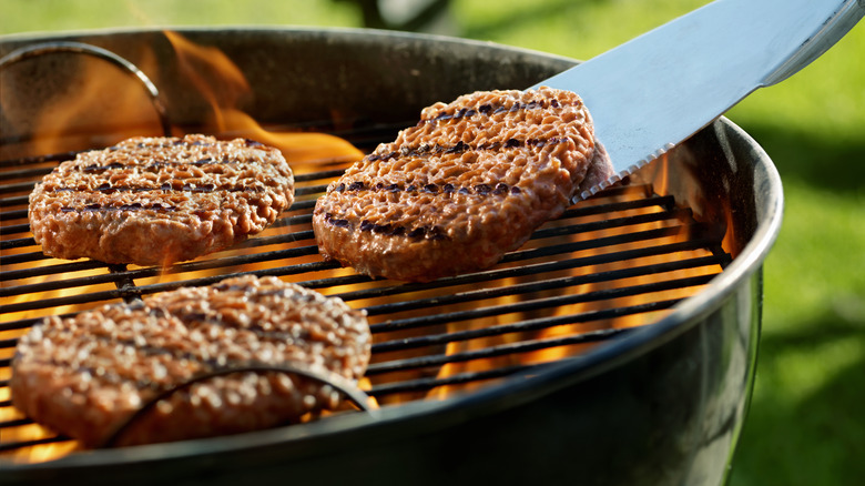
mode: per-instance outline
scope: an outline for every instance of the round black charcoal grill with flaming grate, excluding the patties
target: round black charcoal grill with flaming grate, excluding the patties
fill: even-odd
[[[574,61],[503,45],[370,30],[189,29],[250,83],[242,109],[272,131],[327,132],[364,152],[419,109],[522,89]],[[45,48],[48,43],[48,48]],[[82,47],[83,45],[83,47]],[[21,49],[32,52],[20,55]],[[47,51],[47,52],[42,52]],[[62,52],[59,52],[62,51]],[[10,484],[720,484],[747,408],[762,261],[781,221],[769,158],[721,119],[617,188],[579,202],[497,266],[425,284],[324,262],[315,199],[345,161],[295,168],[297,201],[266,232],[166,270],[45,257],[27,223],[35,181],[77,151],[131,134],[218,131],[157,30],[0,39],[0,474]],[[28,51],[30,52],[30,51]],[[86,58],[86,59],[84,59]],[[141,110],[111,95],[62,133],[34,113],[75,97],[86,63],[114,64]],[[150,67],[146,68],[146,67]],[[159,68],[159,69],[155,69]],[[45,145],[48,143],[48,145]],[[49,146],[50,149],[44,149]],[[291,162],[291,161],[289,161]],[[366,308],[375,414],[212,439],[89,452],[11,406],[17,337],[44,315],[278,275]],[[57,450],[61,450],[59,457]],[[51,450],[52,456],[45,455]]]

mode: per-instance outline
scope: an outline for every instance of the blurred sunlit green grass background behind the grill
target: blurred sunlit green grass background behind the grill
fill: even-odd
[[[588,59],[705,0],[0,0],[0,34],[118,27],[421,30]],[[771,19],[767,19],[771,21]],[[757,381],[731,485],[865,480],[865,21],[727,117],[786,210],[765,262]]]

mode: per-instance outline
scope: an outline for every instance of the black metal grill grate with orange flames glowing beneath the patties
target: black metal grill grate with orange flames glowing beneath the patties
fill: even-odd
[[[350,139],[349,139],[350,140]],[[424,284],[357,275],[320,259],[315,199],[343,168],[297,175],[297,201],[260,236],[170,269],[58,261],[29,234],[27,193],[44,160],[6,161],[0,178],[0,452],[71,442],[32,424],[10,401],[18,336],[51,314],[206,285],[228,275],[278,275],[366,308],[375,336],[362,388],[385,406],[467,393],[533,373],[651,324],[720,273],[724,227],[652,188],[620,186],[570,207],[495,267]],[[21,180],[24,181],[21,181]]]

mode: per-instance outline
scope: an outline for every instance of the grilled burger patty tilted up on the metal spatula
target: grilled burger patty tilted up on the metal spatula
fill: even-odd
[[[313,215],[318,249],[396,280],[486,269],[561,214],[587,173],[611,173],[596,153],[589,112],[569,91],[436,103],[328,185]]]

